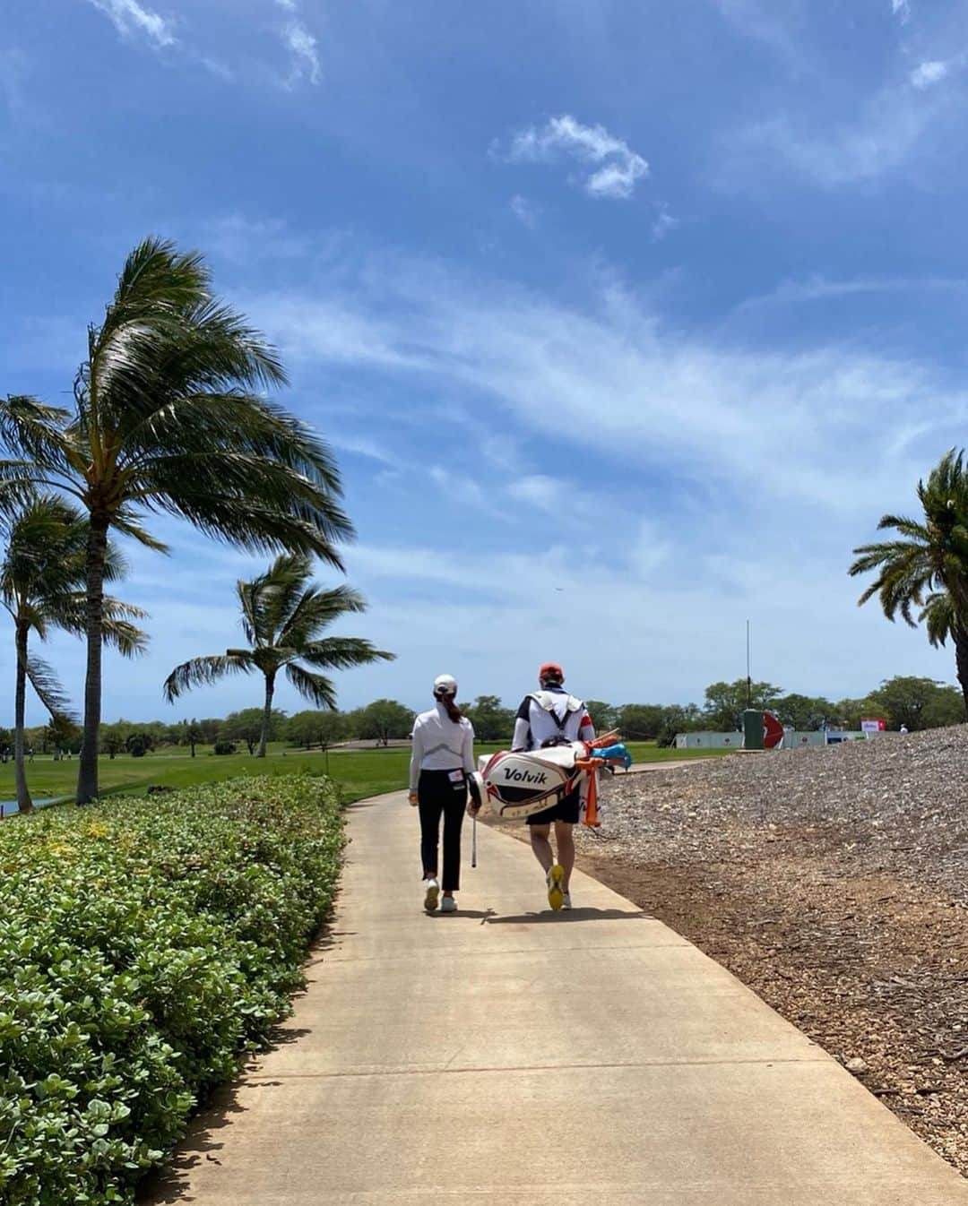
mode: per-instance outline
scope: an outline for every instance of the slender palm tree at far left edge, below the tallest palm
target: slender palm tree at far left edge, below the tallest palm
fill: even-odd
[[[83,636],[86,619],[84,576],[88,544],[86,516],[65,499],[41,494],[27,499],[6,517],[6,552],[0,563],[0,601],[13,620],[17,668],[13,693],[13,762],[17,807],[28,813],[34,804],[24,767],[24,709],[27,683],[36,691],[52,719],[70,719],[66,696],[51,667],[28,650],[30,633],[41,640],[51,628]],[[105,580],[123,573],[124,566],[109,544]],[[144,615],[138,608],[104,598],[104,636],[130,657],[141,652],[145,634],[130,621]]]

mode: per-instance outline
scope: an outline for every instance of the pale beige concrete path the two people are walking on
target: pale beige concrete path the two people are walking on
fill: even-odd
[[[422,914],[416,827],[402,795],[352,809],[287,1041],[152,1202],[968,1204],[838,1064],[595,880],[553,914],[530,850],[479,826],[466,911]]]

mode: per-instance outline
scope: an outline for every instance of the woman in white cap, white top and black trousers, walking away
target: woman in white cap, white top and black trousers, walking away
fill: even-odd
[[[443,889],[443,913],[456,913],[460,889],[461,825],[467,804],[467,775],[474,769],[474,730],[454,702],[457,683],[450,674],[433,680],[430,712],[414,724],[410,754],[410,803],[420,808],[420,857],[424,862],[424,908],[432,913]],[[444,867],[438,878],[437,848],[444,821]]]

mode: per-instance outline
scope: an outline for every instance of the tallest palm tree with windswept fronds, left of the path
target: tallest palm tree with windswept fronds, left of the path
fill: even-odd
[[[164,550],[146,513],[252,550],[339,566],[352,534],[330,449],[256,391],[286,376],[275,351],[211,292],[196,252],[148,239],[128,256],[88,330],[74,406],[0,400],[4,492],[53,487],[88,513],[87,674],[77,802],[98,795],[104,574],[113,529]]]

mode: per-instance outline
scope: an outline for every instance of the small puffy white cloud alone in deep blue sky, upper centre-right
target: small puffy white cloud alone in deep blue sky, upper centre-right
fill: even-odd
[[[550,163],[568,156],[587,165],[599,165],[581,176],[590,197],[619,200],[631,197],[635,185],[648,175],[648,164],[628,142],[603,125],[583,125],[570,113],[553,117],[544,127],[519,130],[511,141],[512,163]]]

